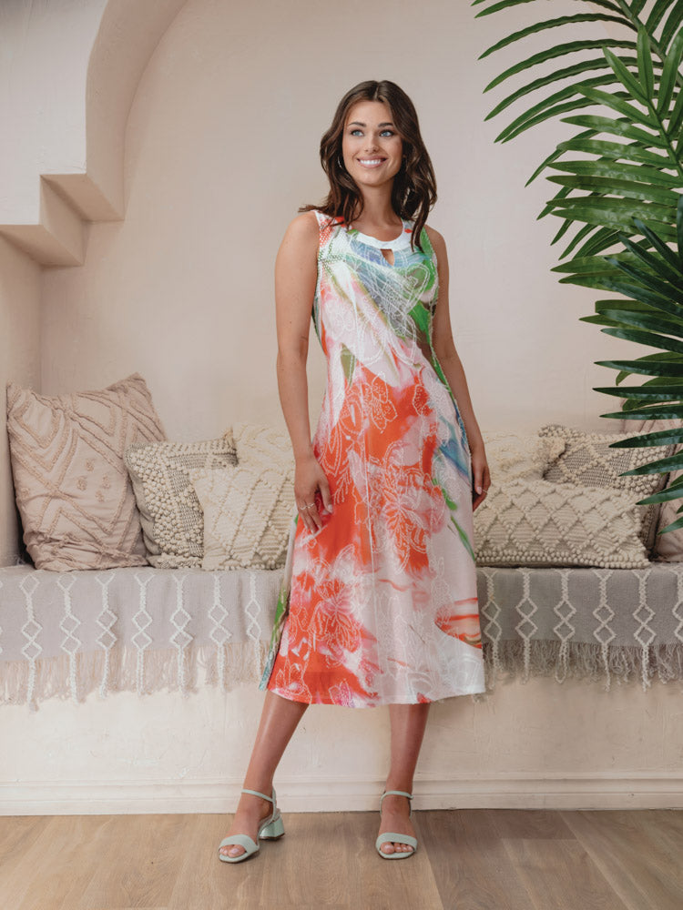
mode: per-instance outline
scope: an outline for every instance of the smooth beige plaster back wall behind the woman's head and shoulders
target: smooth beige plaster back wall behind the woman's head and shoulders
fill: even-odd
[[[297,207],[326,188],[318,145],[339,97],[387,77],[413,97],[433,157],[430,222],[448,243],[454,337],[480,424],[598,426],[611,402],[591,387],[612,373],[592,361],[624,356],[625,345],[577,321],[594,295],[558,285],[549,241],[559,220],[536,221],[550,187],[524,187],[563,129],[502,147],[494,136],[506,118],[484,124],[494,99],[482,89],[522,53],[476,62],[524,15],[495,19],[446,0],[419,15],[406,2],[189,0],[128,118],[125,220],[90,227],[82,268],[46,268],[44,391],[138,370],[174,439],[235,420],[284,428],[277,248]],[[312,329],[311,339],[312,431],[324,362]]]

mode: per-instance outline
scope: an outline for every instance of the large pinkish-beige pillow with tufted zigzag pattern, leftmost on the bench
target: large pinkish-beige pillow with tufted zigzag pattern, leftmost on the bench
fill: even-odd
[[[106,389],[39,395],[7,383],[16,505],[37,569],[147,565],[123,454],[166,438],[139,373]]]

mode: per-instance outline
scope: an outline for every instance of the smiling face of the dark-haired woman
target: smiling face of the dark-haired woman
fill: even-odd
[[[357,101],[349,108],[342,134],[344,166],[359,187],[391,182],[401,169],[403,139],[384,101]]]

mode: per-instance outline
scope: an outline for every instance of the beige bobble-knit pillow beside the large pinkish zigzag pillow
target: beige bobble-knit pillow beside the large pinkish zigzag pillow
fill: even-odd
[[[236,465],[232,430],[216,440],[128,446],[124,459],[138,502],[149,562],[157,569],[200,567],[204,516],[189,473]]]

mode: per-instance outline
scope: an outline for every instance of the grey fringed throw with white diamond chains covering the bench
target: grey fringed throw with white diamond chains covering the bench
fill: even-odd
[[[255,686],[283,571],[0,568],[0,697]],[[683,681],[683,563],[477,566],[477,589],[489,691],[516,675]]]

